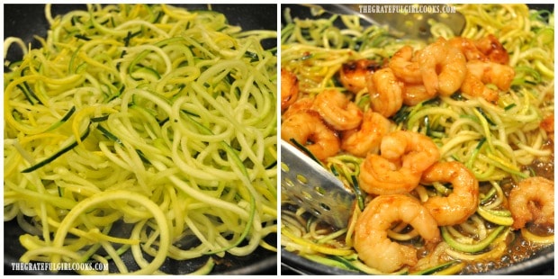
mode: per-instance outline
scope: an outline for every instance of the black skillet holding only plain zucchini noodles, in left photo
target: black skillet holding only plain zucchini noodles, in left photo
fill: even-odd
[[[189,10],[206,10],[207,4],[183,4]],[[85,4],[53,4],[53,14],[66,14],[76,9],[85,9]],[[276,4],[212,4],[211,9],[227,16],[231,25],[239,25],[243,30],[277,30]],[[33,47],[40,45],[33,40],[33,35],[46,36],[49,23],[44,16],[43,4],[4,4],[4,39],[9,36],[20,37],[26,42],[32,42]],[[267,49],[277,45],[276,40],[263,42]],[[21,57],[21,53],[11,51],[9,58]],[[15,221],[4,222],[4,275],[49,275],[49,272],[14,271],[13,265],[19,263],[24,248],[20,245],[19,236],[23,230]],[[276,244],[276,234],[266,238],[267,243]],[[226,254],[223,258],[216,258],[216,266],[211,275],[276,275],[277,253],[258,247],[246,257],[236,257]],[[122,256],[130,269],[136,268],[130,254]],[[201,257],[188,261],[174,261],[167,259],[161,270],[167,274],[184,275],[193,272],[207,261]],[[69,273],[59,273],[69,274]]]

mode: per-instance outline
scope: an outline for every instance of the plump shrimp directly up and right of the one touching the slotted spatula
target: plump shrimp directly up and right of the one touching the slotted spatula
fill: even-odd
[[[363,120],[363,112],[338,90],[324,90],[316,96],[313,109],[335,130],[355,129]]]

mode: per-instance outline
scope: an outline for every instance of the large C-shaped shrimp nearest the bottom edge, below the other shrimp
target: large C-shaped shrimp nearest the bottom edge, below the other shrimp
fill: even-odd
[[[378,196],[356,220],[355,249],[367,266],[392,273],[417,264],[415,247],[388,238],[388,229],[399,221],[410,224],[428,244],[441,239],[436,220],[417,199],[402,194]]]

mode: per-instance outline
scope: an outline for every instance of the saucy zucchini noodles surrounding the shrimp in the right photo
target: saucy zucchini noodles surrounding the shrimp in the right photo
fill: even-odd
[[[554,181],[554,130],[542,128],[543,121],[554,120],[554,13],[530,10],[525,4],[457,4],[455,8],[466,19],[461,36],[478,40],[493,34],[508,50],[509,66],[516,75],[509,90],[500,91],[496,103],[457,91],[414,106],[403,105],[391,117],[396,130],[412,130],[433,139],[442,161],[467,166],[479,181],[481,192],[477,210],[467,221],[440,227],[444,239],[436,247],[422,245],[417,231],[407,224],[394,224],[387,231],[389,238],[413,245],[420,255],[416,266],[404,266],[396,274],[483,273],[514,265],[539,249],[554,246],[554,228],[543,232],[528,227],[511,229],[514,220],[508,208],[509,191],[522,179],[543,175]],[[314,97],[325,89],[347,91],[336,76],[347,62],[367,58],[382,65],[405,45],[422,49],[431,42],[394,38],[383,27],[361,26],[356,15],[321,14],[300,19],[289,13],[284,11],[281,67],[298,78],[299,99]],[[432,41],[454,37],[444,24],[430,24]],[[361,111],[370,109],[367,88],[347,95]],[[355,177],[363,160],[339,152],[322,161],[348,188],[356,189],[358,203],[347,228],[320,223],[283,198],[284,250],[322,265],[382,274],[365,266],[353,247],[356,218],[372,198],[358,192]],[[422,202],[448,193],[452,188],[441,183],[420,184],[411,192]],[[331,240],[324,242],[324,238]],[[326,252],[309,244],[301,247],[302,241],[329,244],[329,249]]]

